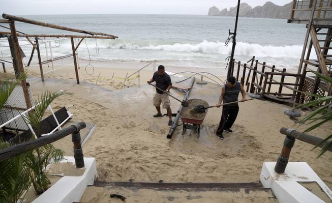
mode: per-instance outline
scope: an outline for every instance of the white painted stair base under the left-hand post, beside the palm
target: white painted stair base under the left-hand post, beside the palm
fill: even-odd
[[[62,162],[75,163],[74,157],[65,157]],[[33,203],[68,203],[79,201],[88,185],[97,179],[95,158],[84,157],[85,171],[82,176],[65,176],[36,198]]]

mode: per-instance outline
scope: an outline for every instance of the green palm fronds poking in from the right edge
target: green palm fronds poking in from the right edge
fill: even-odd
[[[318,75],[318,77],[320,77],[321,79],[325,80],[326,82],[329,82],[330,84],[332,84],[332,78],[331,77],[327,77],[323,74],[320,74],[318,72],[314,72],[316,75]],[[314,101],[310,101],[308,103],[305,104],[301,104],[298,105],[296,108],[303,108],[303,107],[313,107],[319,104],[322,104],[325,102],[325,105],[318,107],[316,110],[314,110],[313,112],[311,112],[309,115],[307,115],[304,119],[301,119],[298,123],[301,125],[310,125],[311,126],[309,128],[307,128],[304,133],[310,132],[318,127],[320,127],[321,125],[325,124],[328,121],[332,121],[332,96],[319,96],[319,95],[313,95],[313,94],[308,94],[310,96],[314,96],[317,97],[318,99],[314,100]],[[332,147],[332,141],[329,141],[332,139],[332,134],[327,135],[327,137],[321,142],[319,143],[317,146],[315,146],[315,148],[317,147],[321,147],[321,151],[318,154],[318,157],[322,156],[327,149],[329,149],[330,147]]]

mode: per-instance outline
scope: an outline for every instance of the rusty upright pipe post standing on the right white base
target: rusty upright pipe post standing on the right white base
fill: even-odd
[[[281,154],[277,159],[277,163],[276,163],[276,166],[275,166],[275,171],[279,174],[285,172],[290,152],[292,150],[292,147],[294,146],[295,138],[290,136],[292,131],[294,131],[294,129],[288,129],[286,131],[286,137],[285,137],[285,140],[284,140],[284,147],[281,150]]]

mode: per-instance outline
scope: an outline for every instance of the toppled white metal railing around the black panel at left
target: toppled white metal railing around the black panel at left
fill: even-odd
[[[63,93],[64,91],[60,90],[59,92]],[[7,126],[8,124],[14,122],[15,120],[17,120],[19,118],[25,117],[30,111],[34,110],[36,108],[36,106],[38,106],[38,105],[40,105],[40,103],[34,105],[33,107],[31,107],[31,108],[23,111],[22,113],[16,115],[14,118],[12,118],[12,119],[8,120],[7,122],[1,124],[0,128]],[[61,130],[62,129],[61,126],[63,126],[69,119],[73,118],[73,114],[69,110],[67,110],[68,117],[62,123],[59,123],[57,118],[55,117],[55,114],[54,114],[54,111],[53,111],[51,105],[48,106],[48,109],[51,111],[51,114],[53,115],[53,118],[54,118],[57,126],[51,132],[46,133],[46,134],[42,134],[41,136],[52,134],[53,132],[55,132],[58,129]],[[36,135],[35,131],[33,130],[32,126],[28,123],[26,123],[26,125],[29,128],[29,130],[34,134],[35,138],[37,138],[37,135]]]

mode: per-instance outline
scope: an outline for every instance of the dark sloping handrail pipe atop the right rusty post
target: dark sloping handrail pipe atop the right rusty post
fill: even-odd
[[[307,142],[309,144],[313,144],[314,146],[318,146],[318,144],[320,144],[324,139],[316,137],[316,136],[312,136],[306,133],[302,133],[302,132],[298,132],[294,129],[288,129],[288,128],[281,128],[280,129],[280,133],[287,135],[288,136],[294,138],[294,139],[298,139],[304,142]],[[318,146],[321,148],[321,146]],[[332,152],[332,147],[330,147],[329,149],[327,149],[327,151]]]

